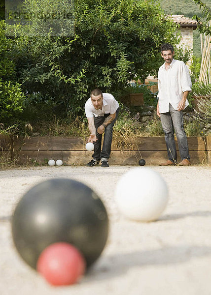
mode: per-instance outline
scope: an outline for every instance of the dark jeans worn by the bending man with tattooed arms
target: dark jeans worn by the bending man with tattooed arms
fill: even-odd
[[[104,132],[104,143],[103,148],[101,151],[101,143],[102,143],[102,135],[98,133],[98,127],[103,124],[105,119],[110,114],[105,114],[103,117],[95,117],[94,116],[94,122],[95,122],[95,128],[96,128],[96,137],[97,141],[93,142],[94,144],[94,153],[92,155],[93,159],[95,159],[97,162],[100,162],[100,160],[106,160],[110,157],[110,149],[111,149],[111,142],[112,142],[112,135],[113,135],[113,125],[119,115],[119,108],[116,110],[116,118],[106,126],[105,132]]]

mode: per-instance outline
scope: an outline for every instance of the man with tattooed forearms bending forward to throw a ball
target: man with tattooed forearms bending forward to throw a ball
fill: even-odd
[[[90,137],[88,142],[94,144],[93,159],[86,166],[109,167],[108,159],[112,142],[113,125],[119,114],[119,104],[109,93],[102,93],[100,89],[92,90],[90,98],[85,103],[85,113],[89,123]],[[104,143],[101,151],[102,134]]]

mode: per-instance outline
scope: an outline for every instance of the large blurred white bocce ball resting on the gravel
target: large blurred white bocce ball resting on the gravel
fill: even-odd
[[[148,167],[124,174],[115,190],[119,211],[137,221],[156,220],[168,202],[168,187],[161,175]]]

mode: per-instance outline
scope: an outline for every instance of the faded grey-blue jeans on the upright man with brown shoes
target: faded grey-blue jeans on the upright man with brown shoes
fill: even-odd
[[[169,104],[169,112],[161,113],[160,118],[163,131],[165,133],[165,141],[169,160],[171,160],[172,162],[175,162],[177,160],[174,129],[176,131],[176,138],[181,160],[190,160],[187,137],[183,126],[182,111],[175,110],[173,106]]]

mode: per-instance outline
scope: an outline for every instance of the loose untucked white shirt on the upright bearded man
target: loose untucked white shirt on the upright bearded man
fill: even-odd
[[[191,91],[192,83],[187,66],[183,61],[173,59],[166,70],[166,62],[158,71],[158,103],[160,113],[169,112],[169,104],[175,110],[183,92]],[[189,105],[186,99],[185,108]]]

